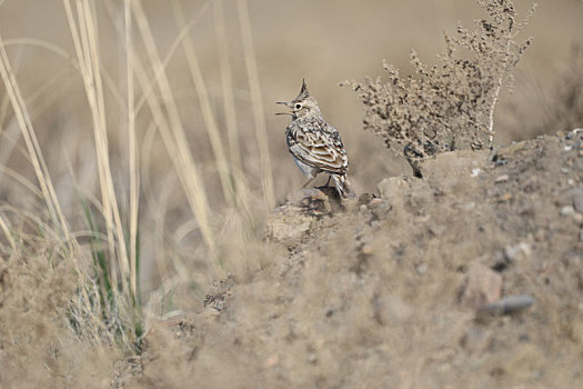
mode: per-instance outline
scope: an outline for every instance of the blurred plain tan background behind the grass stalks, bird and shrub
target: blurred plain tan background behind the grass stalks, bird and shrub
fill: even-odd
[[[212,207],[221,207],[222,198],[217,168],[210,150],[204,122],[201,118],[195,88],[185,57],[175,46],[177,27],[172,1],[143,1],[151,32],[162,58],[168,58],[167,73],[190,147],[201,164],[205,191]],[[515,1],[521,14],[530,2]],[[213,1],[182,1],[182,14],[190,23],[189,37],[197,50],[212,108],[220,129],[224,130],[221,90],[221,56],[219,52]],[[239,140],[243,166],[251,189],[260,187],[260,169],[251,94],[245,68],[245,51],[241,39],[240,19],[235,2],[223,1],[225,30],[229,43],[229,63],[232,69]],[[119,90],[107,91],[110,153],[115,169],[118,190],[127,189],[123,169],[127,166],[125,130],[119,96],[125,84],[125,54],[123,46],[123,2],[98,1],[100,59],[103,69]],[[362,80],[366,76],[382,76],[382,60],[386,59],[411,71],[409,51],[435,63],[435,54],[444,49],[443,31],[453,32],[461,21],[471,28],[481,9],[469,0],[411,1],[349,1],[294,0],[249,1],[249,13],[255,60],[264,108],[271,167],[274,177],[275,200],[303,183],[285,149],[284,129],[288,118],[275,117],[275,101],[291,100],[305,78],[310,90],[320,102],[324,118],[341,132],[349,152],[350,176],[359,192],[374,191],[384,177],[406,171],[406,163],[395,159],[379,138],[364,132],[361,126],[362,107],[349,88],[339,88],[343,80]],[[526,139],[534,134],[554,133],[557,128],[542,128],[547,112],[553,109],[553,97],[567,72],[573,47],[583,41],[583,3],[576,0],[543,1],[520,40],[534,37],[534,43],[524,54],[515,74],[514,92],[504,92],[496,109],[497,141]],[[34,130],[57,182],[61,201],[69,211],[79,212],[76,192],[71,190],[68,163],[83,188],[97,190],[90,113],[81,78],[74,69],[76,54],[63,6],[58,0],[0,1],[0,36],[4,40],[9,60],[16,72]],[[143,44],[135,32],[137,56],[144,56]],[[30,44],[32,43],[32,44]],[[41,47],[42,46],[42,47]],[[170,51],[173,50],[173,51]],[[20,131],[14,122],[6,93],[0,86],[0,163],[16,167],[28,177],[32,170],[18,150]],[[138,98],[139,99],[139,96]],[[152,119],[145,109],[138,112],[137,126],[142,170],[142,194],[148,197],[142,207],[148,209],[141,221],[161,223],[192,250],[180,226],[192,216],[184,210],[175,177],[168,174],[171,163],[162,142],[152,134]],[[224,136],[224,132],[222,133]],[[225,137],[223,142],[227,143]],[[3,178],[6,180],[6,178]],[[322,181],[324,178],[322,178]],[[3,181],[0,196],[14,206],[26,206],[27,197],[7,188]],[[177,190],[174,190],[177,189]],[[259,189],[258,189],[259,190]],[[121,196],[123,198],[123,196]],[[158,208],[157,208],[158,207]],[[215,208],[217,209],[217,208]],[[157,221],[163,215],[163,221]],[[157,237],[154,228],[150,233]],[[144,246],[155,239],[144,239]],[[195,240],[195,237],[192,238]],[[152,250],[144,249],[144,255]],[[150,256],[154,256],[150,253]],[[148,263],[148,261],[144,261]],[[150,271],[145,271],[150,273]]]

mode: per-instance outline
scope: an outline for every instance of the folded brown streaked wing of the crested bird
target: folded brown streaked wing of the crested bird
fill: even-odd
[[[288,147],[293,157],[308,166],[339,174],[348,170],[346,151],[340,133],[331,126],[292,124],[288,129]]]

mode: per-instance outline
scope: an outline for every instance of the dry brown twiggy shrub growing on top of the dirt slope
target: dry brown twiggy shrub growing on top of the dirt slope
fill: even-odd
[[[492,146],[500,91],[511,86],[512,71],[531,44],[530,38],[523,42],[515,38],[535,4],[522,20],[511,0],[478,4],[487,17],[476,20],[473,31],[458,26],[455,36],[445,34],[446,50],[438,56],[438,64],[423,63],[412,50],[416,77],[401,77],[399,69],[384,62],[388,82],[378,77],[350,83],[365,107],[364,129],[402,153],[418,177],[420,159]]]

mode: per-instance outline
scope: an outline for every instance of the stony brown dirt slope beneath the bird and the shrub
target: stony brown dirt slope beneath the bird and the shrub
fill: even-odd
[[[274,265],[152,329],[124,385],[583,385],[583,132],[421,168],[358,203],[290,198]]]

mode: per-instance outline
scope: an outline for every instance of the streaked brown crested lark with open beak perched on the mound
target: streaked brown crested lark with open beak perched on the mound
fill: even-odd
[[[330,178],[334,180],[342,198],[355,197],[346,177],[349,159],[340,133],[322,118],[320,107],[310,94],[305,80],[295,99],[278,103],[290,109],[289,112],[278,114],[290,114],[292,118],[291,124],[285,129],[285,138],[295,163],[309,178],[302,188],[308,187],[318,173],[325,172],[329,174],[328,182]]]

